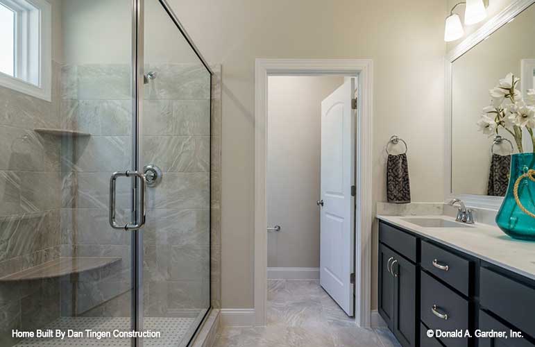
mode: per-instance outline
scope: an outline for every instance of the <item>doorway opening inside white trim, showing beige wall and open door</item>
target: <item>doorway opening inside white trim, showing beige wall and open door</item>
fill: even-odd
[[[314,280],[347,316],[354,314],[356,79],[268,78],[269,285]]]

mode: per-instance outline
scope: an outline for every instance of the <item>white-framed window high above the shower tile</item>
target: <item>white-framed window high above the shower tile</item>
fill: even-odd
[[[0,85],[50,101],[48,1],[0,0]]]

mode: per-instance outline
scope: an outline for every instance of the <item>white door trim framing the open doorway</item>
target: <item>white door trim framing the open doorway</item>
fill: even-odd
[[[373,60],[369,59],[256,59],[255,60],[255,325],[266,325],[267,303],[267,92],[268,76],[358,76],[355,219],[355,321],[371,324],[371,226],[373,151]]]

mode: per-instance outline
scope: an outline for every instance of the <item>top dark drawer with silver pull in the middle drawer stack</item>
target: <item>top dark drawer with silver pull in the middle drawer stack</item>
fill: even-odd
[[[470,261],[425,241],[422,241],[421,254],[424,269],[462,294],[470,294]]]

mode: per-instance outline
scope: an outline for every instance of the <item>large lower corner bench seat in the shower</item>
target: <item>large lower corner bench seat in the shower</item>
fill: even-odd
[[[106,266],[119,264],[119,257],[61,257],[50,262],[33,266],[29,269],[12,273],[0,278],[0,282],[12,282],[22,280],[42,280],[44,278],[56,278],[85,271],[102,269]]]

